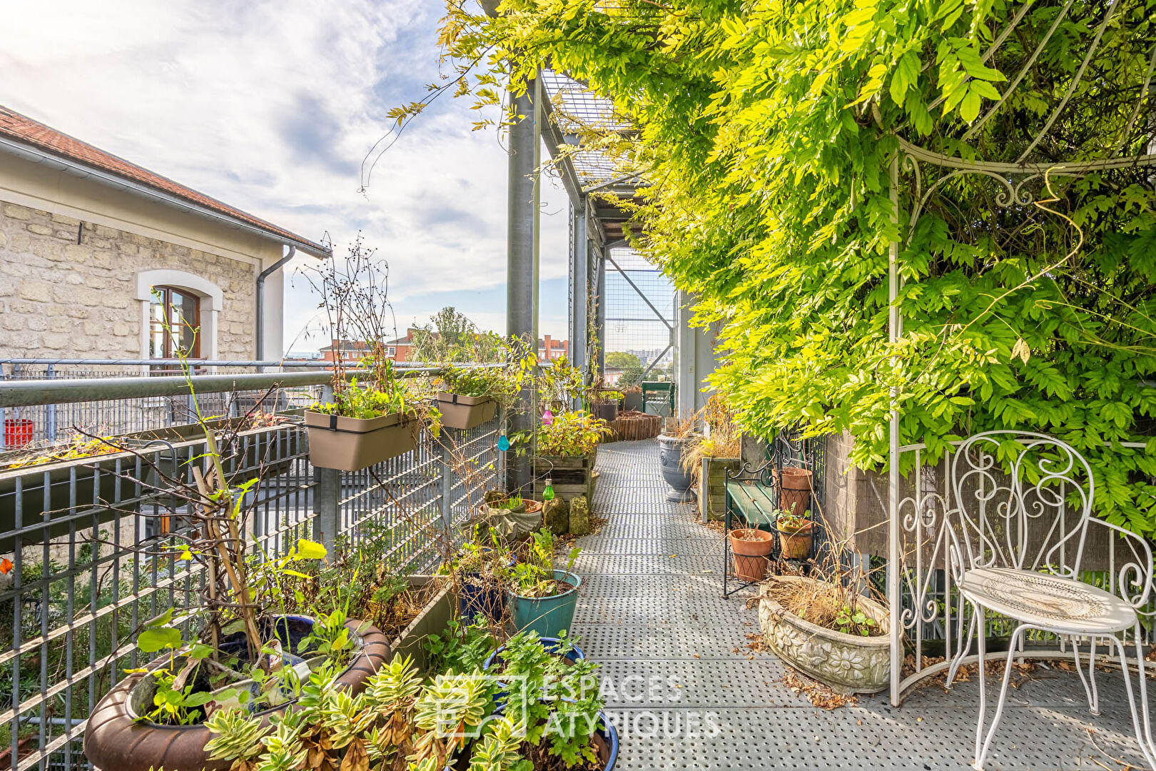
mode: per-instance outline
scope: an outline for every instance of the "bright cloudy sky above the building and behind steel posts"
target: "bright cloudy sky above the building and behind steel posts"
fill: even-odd
[[[506,151],[446,95],[358,192],[386,112],[439,77],[437,0],[42,0],[6,5],[0,104],[343,255],[390,266],[399,332],[446,305],[505,332]],[[566,334],[568,202],[542,186],[540,329]],[[325,344],[287,266],[286,347]]]

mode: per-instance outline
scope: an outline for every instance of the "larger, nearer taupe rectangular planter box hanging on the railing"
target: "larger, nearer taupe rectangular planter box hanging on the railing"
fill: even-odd
[[[390,413],[379,417],[340,417],[305,410],[309,460],[319,468],[356,472],[417,446],[418,422]]]

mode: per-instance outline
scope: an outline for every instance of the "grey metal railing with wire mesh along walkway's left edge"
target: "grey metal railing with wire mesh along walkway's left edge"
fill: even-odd
[[[428,370],[423,370],[428,371]],[[324,371],[194,376],[198,399],[264,393]],[[184,378],[102,378],[0,383],[3,408],[101,403],[187,395]],[[61,413],[58,412],[58,415]],[[298,538],[332,548],[388,539],[386,564],[402,573],[435,564],[460,543],[460,526],[486,488],[502,487],[501,416],[475,429],[423,430],[417,448],[360,472],[314,468],[303,425],[243,431],[228,474],[259,477],[247,527],[269,555]],[[88,769],[80,750],[86,719],[126,668],[146,657],[133,643],[146,620],[175,608],[187,627],[202,580],[191,562],[146,556],[134,547],[163,531],[173,503],[154,489],[157,473],[192,482],[203,437],[139,440],[117,453],[43,466],[0,461],[0,766]],[[163,487],[163,485],[162,485]],[[186,631],[188,631],[186,629]]]

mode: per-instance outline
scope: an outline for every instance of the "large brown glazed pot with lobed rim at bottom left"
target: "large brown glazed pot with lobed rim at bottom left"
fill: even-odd
[[[390,645],[376,627],[350,618],[350,633],[361,639],[362,650],[336,680],[353,694],[365,690],[365,681],[390,659]],[[360,631],[358,631],[360,630]],[[164,666],[168,658],[157,659],[149,669]],[[138,720],[132,709],[133,690],[148,676],[135,673],[121,680],[102,698],[88,718],[84,729],[84,756],[102,771],[229,771],[232,761],[210,761],[205,744],[213,734],[205,725],[161,726]],[[269,724],[269,717],[284,711],[288,704],[254,717]]]

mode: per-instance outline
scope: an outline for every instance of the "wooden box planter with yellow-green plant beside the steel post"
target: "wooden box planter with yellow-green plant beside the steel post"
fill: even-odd
[[[609,433],[605,421],[585,410],[560,413],[541,425],[534,458],[535,497],[546,491],[549,479],[555,496],[563,501],[579,495],[593,499],[598,445]]]

